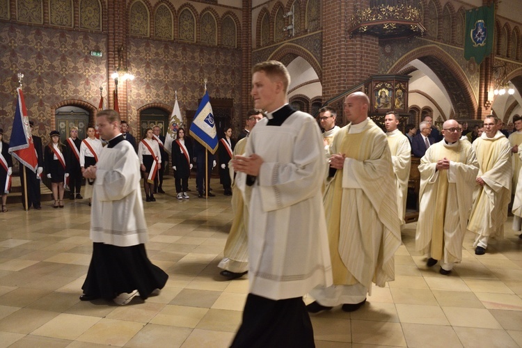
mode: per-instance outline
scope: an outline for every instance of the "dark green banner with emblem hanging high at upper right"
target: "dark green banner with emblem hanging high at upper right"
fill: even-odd
[[[493,28],[495,26],[495,4],[466,11],[466,29],[464,29],[464,58],[475,57],[480,64],[493,48]]]

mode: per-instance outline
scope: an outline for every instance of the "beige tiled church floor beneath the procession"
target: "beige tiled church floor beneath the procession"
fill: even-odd
[[[178,201],[171,177],[165,186],[156,203],[144,203],[146,248],[170,279],[158,296],[125,306],[78,299],[91,253],[86,200],[29,212],[10,205],[0,213],[0,347],[228,347],[248,291],[248,279],[223,280],[217,268],[230,198],[217,180],[209,200],[192,192]],[[314,315],[317,347],[522,346],[522,241],[510,222],[506,238],[480,257],[466,235],[464,260],[451,276],[425,266],[410,223],[395,257],[396,280],[374,287],[354,313]]]

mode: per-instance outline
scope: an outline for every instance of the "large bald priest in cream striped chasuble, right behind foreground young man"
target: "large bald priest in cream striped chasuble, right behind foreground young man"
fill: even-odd
[[[335,135],[324,192],[333,286],[317,287],[308,312],[342,304],[352,312],[395,278],[394,254],[401,244],[392,159],[386,135],[367,117],[370,100],[362,92],[345,98],[350,123]]]

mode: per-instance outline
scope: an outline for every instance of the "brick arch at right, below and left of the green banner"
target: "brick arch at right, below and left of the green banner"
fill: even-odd
[[[473,118],[477,115],[477,99],[473,94],[466,74],[454,58],[436,45],[418,47],[404,54],[391,68],[388,74],[396,74],[402,67],[414,59],[418,59],[429,66],[441,79],[441,82],[450,96],[453,109],[457,115]]]

